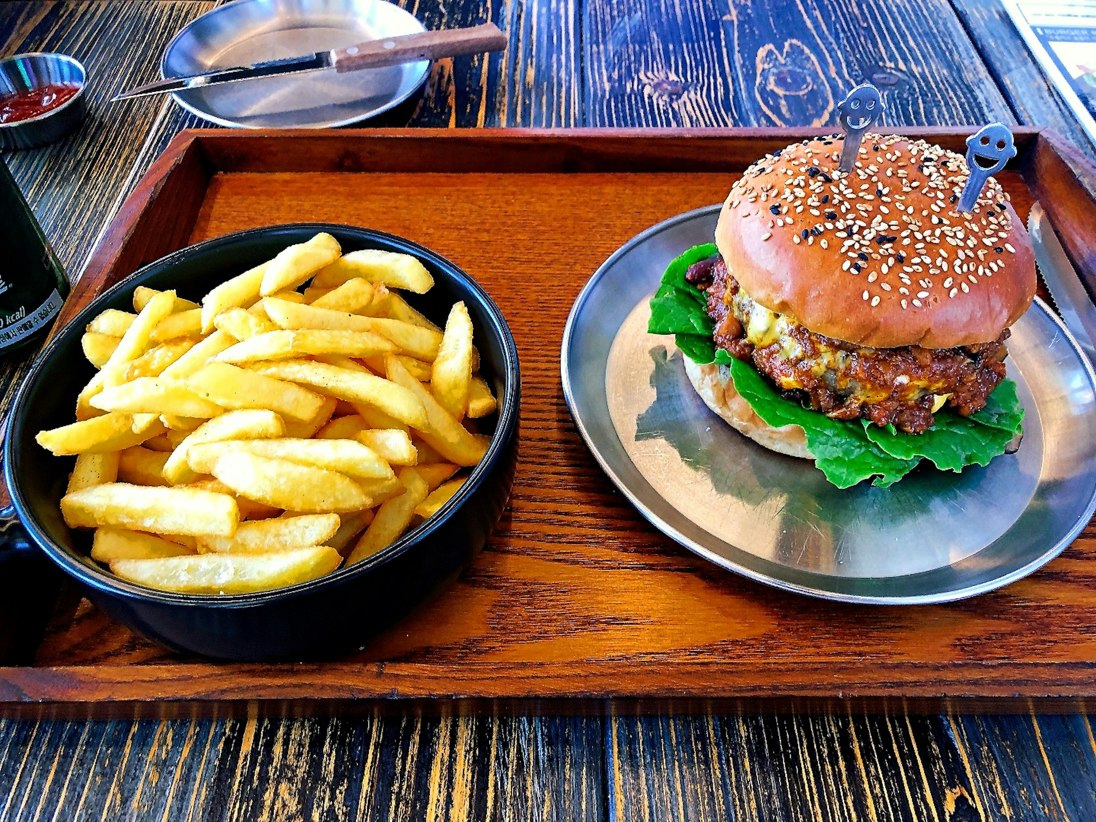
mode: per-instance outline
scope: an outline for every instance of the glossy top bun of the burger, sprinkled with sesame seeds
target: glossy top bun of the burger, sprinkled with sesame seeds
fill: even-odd
[[[954,151],[866,134],[842,174],[841,148],[788,146],[731,187],[716,244],[746,294],[809,331],[881,349],[990,342],[1019,319],[1035,256],[996,180],[964,215],[969,170]]]

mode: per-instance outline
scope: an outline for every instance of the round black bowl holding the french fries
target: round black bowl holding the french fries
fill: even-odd
[[[460,491],[430,520],[377,555],[311,582],[256,594],[196,596],[135,585],[89,556],[88,532],[72,532],[59,502],[75,457],[55,457],[34,435],[72,422],[76,397],[94,368],[80,336],[107,308],[133,310],[139,286],[174,288],[198,299],[218,283],[270,260],[317,231],[346,251],[384,249],[413,254],[434,276],[425,295],[408,301],[444,323],[464,300],[476,331],[480,372],[499,398],[487,456]],[[12,407],[4,460],[15,511],[34,540],[119,623],[168,648],[239,661],[317,659],[362,644],[430,596],[483,547],[510,498],[517,461],[521,373],[517,346],[499,307],[456,265],[408,240],[349,226],[296,224],[240,231],[192,246],[147,265],[80,312],[49,343]],[[491,419],[483,420],[490,424]]]

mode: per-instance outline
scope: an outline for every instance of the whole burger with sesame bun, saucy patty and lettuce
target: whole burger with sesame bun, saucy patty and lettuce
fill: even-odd
[[[1005,341],[1035,297],[1027,231],[993,178],[957,210],[960,155],[869,134],[842,173],[841,149],[820,137],[746,169],[649,330],[676,335],[712,411],[837,486],[986,465],[1023,421]]]

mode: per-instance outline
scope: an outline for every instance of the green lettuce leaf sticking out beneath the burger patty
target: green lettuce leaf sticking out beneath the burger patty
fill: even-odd
[[[849,488],[870,477],[883,488],[898,482],[922,460],[941,470],[960,471],[968,465],[987,465],[1005,453],[1020,432],[1024,409],[1016,384],[1004,380],[990,395],[984,409],[970,416],[949,410],[936,413],[924,434],[911,435],[893,425],[882,429],[865,420],[831,420],[779,395],[773,384],[747,363],[734,359],[711,339],[712,322],[704,293],[685,281],[688,266],[718,253],[711,244],[696,246],[665,271],[651,299],[652,334],[674,334],[682,353],[695,363],[730,366],[734,387],[769,425],[799,425],[814,464],[838,488]]]

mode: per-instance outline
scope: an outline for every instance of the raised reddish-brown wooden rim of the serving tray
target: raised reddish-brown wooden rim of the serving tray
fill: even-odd
[[[955,139],[961,142],[971,129],[963,127],[920,127],[888,129],[909,135]],[[128,276],[125,270],[140,246],[141,218],[161,193],[176,194],[172,173],[190,164],[186,173],[202,173],[208,180],[217,172],[274,171],[273,168],[247,168],[247,152],[263,157],[260,148],[271,140],[316,147],[330,153],[339,147],[378,150],[392,140],[402,146],[422,146],[437,153],[469,151],[477,148],[498,157],[502,167],[483,172],[520,171],[514,157],[529,145],[537,145],[545,157],[563,168],[556,173],[584,171],[614,172],[619,163],[635,162],[638,141],[651,142],[650,151],[674,148],[683,152],[674,159],[683,172],[720,171],[701,162],[710,160],[713,145],[727,140],[761,141],[787,145],[826,128],[720,128],[720,129],[341,129],[222,130],[187,129],[176,135],[138,182],[122,208],[102,232],[89,255],[83,275],[75,284],[73,295],[55,324],[55,332],[83,300]],[[1096,202],[1096,167],[1044,128],[1014,129],[1020,153],[1013,170],[1020,171],[1035,198],[1038,180],[1029,176],[1031,168],[1046,173],[1066,169],[1068,184],[1085,195],[1084,209]],[[259,141],[259,142],[254,142]],[[661,146],[660,146],[661,144]],[[501,153],[499,153],[501,150]],[[509,153],[507,153],[509,152]],[[1040,153],[1041,152],[1041,153]],[[307,162],[322,165],[330,157],[313,157]],[[406,152],[407,153],[407,152]],[[419,158],[418,150],[410,153]],[[423,155],[429,156],[429,155]],[[468,155],[463,155],[467,157]],[[539,156],[539,155],[538,155]],[[651,155],[654,157],[654,155]],[[242,158],[242,159],[241,159]],[[370,159],[373,159],[370,157]],[[650,159],[650,158],[648,158]],[[250,161],[262,165],[261,160]],[[419,162],[415,159],[415,162]],[[285,163],[275,157],[273,162]],[[511,163],[506,165],[506,163]],[[592,169],[590,163],[613,168]],[[652,161],[653,162],[653,161]],[[1030,162],[1031,165],[1021,163]],[[1048,167],[1048,163],[1050,165]],[[657,163],[655,163],[657,164]],[[283,168],[281,171],[305,170]],[[391,171],[384,168],[318,167],[313,171]],[[418,171],[426,171],[419,169]],[[660,171],[644,168],[633,171]],[[722,169],[726,170],[726,169]],[[404,169],[413,173],[415,169]],[[1051,201],[1053,203],[1053,201]],[[1046,204],[1044,204],[1046,205]],[[1055,204],[1057,205],[1057,204]],[[1058,213],[1051,219],[1059,228]],[[1094,212],[1096,213],[1096,212]],[[1080,220],[1088,225],[1089,213]],[[1075,213],[1064,212],[1065,219]],[[1076,220],[1075,220],[1076,221]],[[187,229],[189,230],[189,229]],[[1096,237],[1096,232],[1092,236]],[[1065,238],[1069,239],[1069,238]],[[1065,243],[1068,250],[1073,250]],[[1088,249],[1086,249],[1086,252]],[[1096,256],[1096,243],[1091,253]],[[135,270],[135,269],[134,269]],[[1081,267],[1078,267],[1081,271]],[[114,279],[107,282],[107,275]],[[83,302],[85,305],[85,301]],[[2,492],[0,492],[2,496]],[[0,500],[2,503],[2,500]],[[756,710],[849,710],[854,706],[870,710],[905,709],[939,712],[963,710],[1028,711],[1032,706],[1047,711],[1086,710],[1086,701],[1096,699],[1096,661],[1069,659],[1032,662],[978,662],[955,660],[941,663],[876,663],[871,665],[811,663],[796,666],[774,661],[727,665],[726,660],[690,663],[660,663],[660,674],[651,677],[649,662],[635,659],[602,659],[582,664],[535,661],[511,663],[441,663],[437,665],[400,662],[322,663],[319,666],[278,665],[248,669],[210,663],[205,660],[164,663],[82,664],[73,666],[0,666],[0,717],[72,716],[79,718],[112,716],[226,716],[258,712],[294,716],[308,712],[340,715],[364,710],[472,711],[523,713],[601,712],[606,700],[621,710],[675,711],[712,710],[729,712]],[[453,674],[465,680],[454,689]],[[696,674],[705,672],[708,682],[697,686]],[[903,672],[904,675],[902,675]],[[320,682],[320,674],[326,673]],[[240,677],[236,681],[233,676]],[[812,678],[813,677],[813,678]],[[1049,683],[1049,684],[1048,684]],[[301,694],[301,689],[307,689]]]

